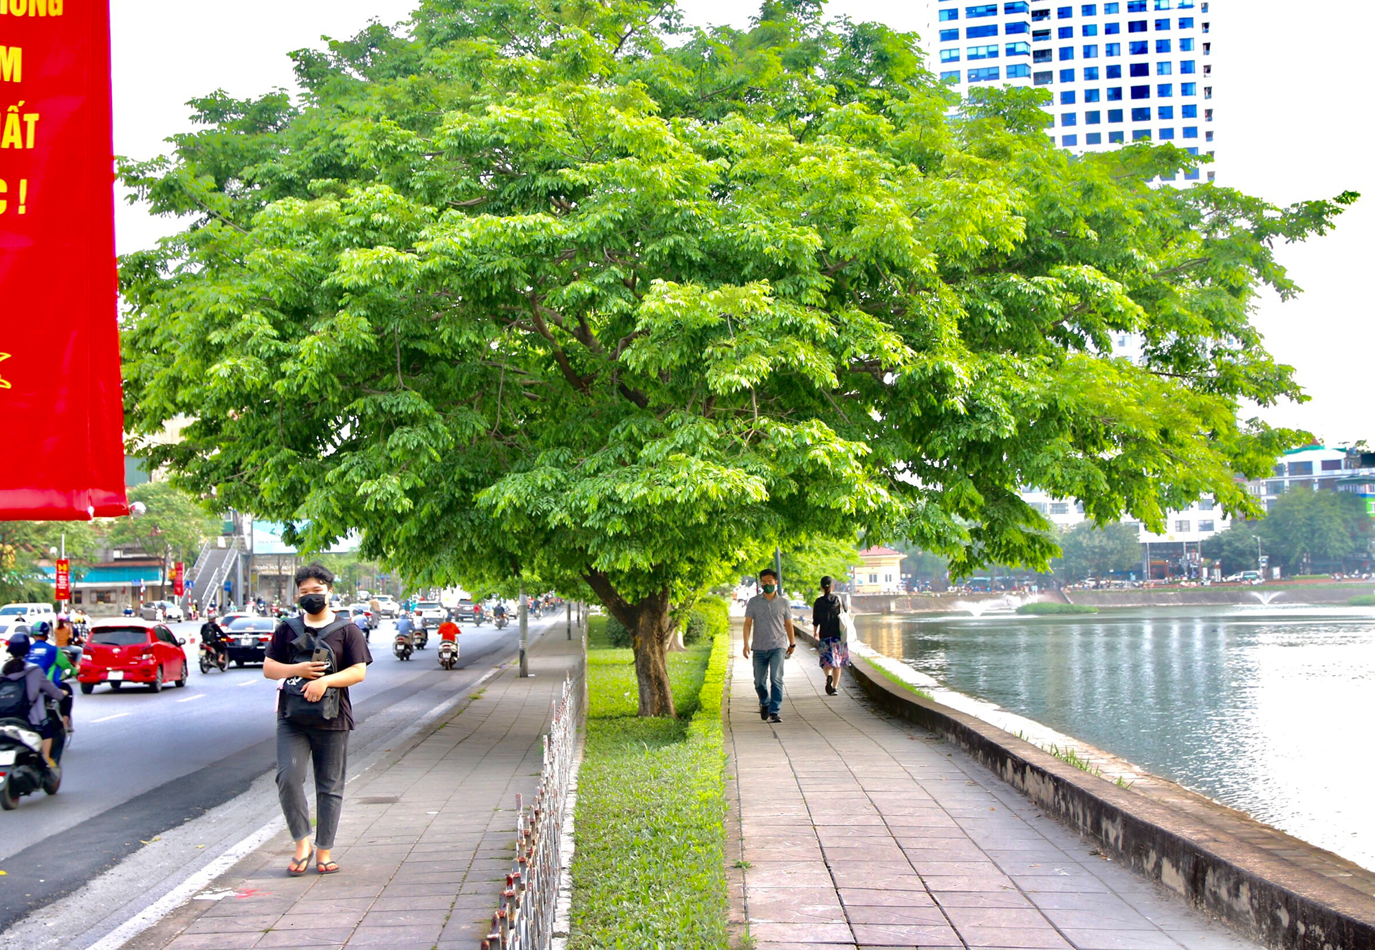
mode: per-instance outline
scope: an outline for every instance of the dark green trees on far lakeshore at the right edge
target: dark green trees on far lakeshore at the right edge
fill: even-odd
[[[1272,562],[1290,573],[1334,564],[1368,550],[1372,525],[1358,495],[1335,491],[1291,491],[1280,495],[1257,531]]]

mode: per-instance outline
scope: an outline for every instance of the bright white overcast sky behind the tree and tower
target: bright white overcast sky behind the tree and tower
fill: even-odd
[[[352,36],[370,18],[404,19],[412,5],[412,0],[238,0],[231,7],[111,0],[116,151],[136,158],[160,154],[162,139],[190,129],[184,103],[192,96],[223,88],[246,98],[290,87],[287,51],[318,45],[320,36]],[[832,0],[828,10],[916,30],[924,5]],[[744,26],[758,4],[679,0],[679,7],[692,22]],[[1370,267],[1364,253],[1375,246],[1375,161],[1358,92],[1368,85],[1364,47],[1375,33],[1375,5],[1211,0],[1211,7],[1218,180],[1276,202],[1331,197],[1343,188],[1365,195],[1334,234],[1282,249],[1282,263],[1306,293],[1288,304],[1266,301],[1257,324],[1270,352],[1297,367],[1312,401],[1264,415],[1330,444],[1375,443],[1368,392],[1375,320],[1364,286]],[[142,209],[124,206],[117,227],[121,253],[146,247],[170,230]]]

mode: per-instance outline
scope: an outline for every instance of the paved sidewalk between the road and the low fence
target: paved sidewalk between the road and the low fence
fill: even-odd
[[[551,630],[531,646],[532,678],[507,664],[399,759],[351,777],[338,874],[287,877],[283,830],[126,950],[473,950],[512,866],[516,795],[535,791],[550,704],[580,656]]]

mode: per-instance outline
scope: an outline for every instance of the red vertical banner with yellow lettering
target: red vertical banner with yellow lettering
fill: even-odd
[[[107,0],[0,0],[0,520],[128,513]]]

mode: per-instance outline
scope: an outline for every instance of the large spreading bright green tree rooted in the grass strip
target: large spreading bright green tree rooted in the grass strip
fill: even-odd
[[[785,538],[1044,566],[1020,484],[1250,510],[1294,440],[1238,407],[1298,395],[1250,308],[1350,195],[1156,187],[1195,159],[1060,151],[1041,91],[952,113],[916,37],[820,11],[428,0],[294,54],[300,98],[197,100],[124,166],[186,219],[124,258],[131,425],[194,417],[154,461],[308,546],[590,588],[645,715],[674,604]]]

